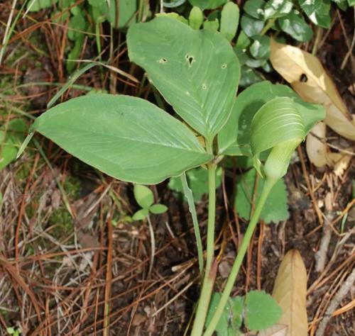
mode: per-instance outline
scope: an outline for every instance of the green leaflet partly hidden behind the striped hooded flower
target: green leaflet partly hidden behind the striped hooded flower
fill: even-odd
[[[231,116],[218,135],[219,152],[226,155],[251,155],[251,121],[256,112],[275,97],[293,99],[305,125],[305,133],[325,117],[324,107],[306,103],[293,89],[264,81],[249,86],[236,98]]]

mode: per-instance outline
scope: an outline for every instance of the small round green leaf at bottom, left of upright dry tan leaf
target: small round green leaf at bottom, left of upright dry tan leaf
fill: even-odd
[[[280,320],[278,303],[264,291],[250,291],[245,299],[245,322],[249,330],[263,330]]]

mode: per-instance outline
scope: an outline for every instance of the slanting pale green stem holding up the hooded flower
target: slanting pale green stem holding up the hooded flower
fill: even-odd
[[[254,229],[256,228],[256,224],[258,223],[258,219],[260,217],[260,213],[263,210],[263,206],[268,198],[268,194],[270,194],[271,189],[273,188],[275,182],[277,180],[274,179],[266,179],[265,184],[263,186],[263,191],[261,191],[261,196],[259,198],[258,204],[256,205],[255,211],[251,217],[251,221],[246,229],[246,233],[244,235],[244,239],[241,242],[241,246],[239,247],[238,254],[236,254],[236,259],[234,260],[233,267],[231,269],[231,273],[228,276],[228,280],[226,281],[226,286],[224,287],[224,291],[221,296],[221,300],[217,306],[217,310],[215,311],[211,322],[209,323],[206,331],[204,332],[204,336],[210,336],[214,332],[221,318],[221,315],[224,311],[226,303],[231,295],[231,290],[233,289],[234,282],[236,281],[236,276],[238,275],[239,269],[241,268],[241,262],[243,262],[244,256],[246,254],[246,250],[249,246],[249,242],[253,235]]]

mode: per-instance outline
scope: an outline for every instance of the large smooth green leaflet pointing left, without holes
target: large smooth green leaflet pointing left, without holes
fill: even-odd
[[[209,159],[195,135],[157,106],[94,94],[61,103],[31,130],[116,179],[156,184]]]

